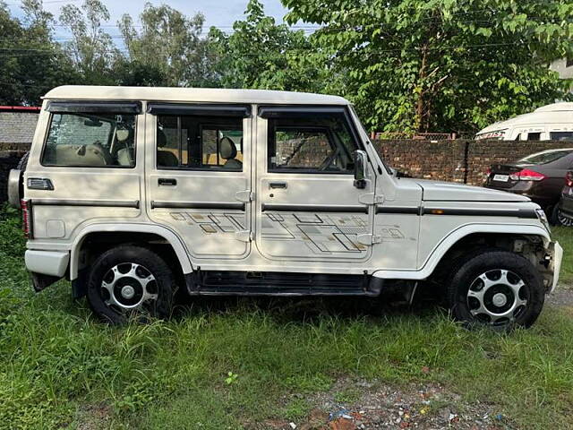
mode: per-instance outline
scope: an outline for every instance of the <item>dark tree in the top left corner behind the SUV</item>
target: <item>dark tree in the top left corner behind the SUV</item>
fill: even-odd
[[[0,2],[0,104],[38,105],[48,90],[78,79],[53,40],[54,18],[39,0],[22,1],[23,19]]]

